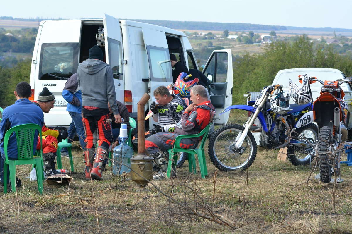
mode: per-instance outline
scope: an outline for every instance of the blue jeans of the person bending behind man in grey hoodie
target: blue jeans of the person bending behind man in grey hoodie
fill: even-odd
[[[80,144],[82,148],[86,148],[86,132],[84,131],[83,123],[82,123],[82,114],[81,113],[76,113],[76,112],[68,112],[72,118],[70,127],[68,129],[68,143],[71,143],[72,141],[70,139],[73,139],[75,137],[75,134],[77,133],[78,139],[80,140]],[[62,148],[61,152],[68,152],[67,148]]]

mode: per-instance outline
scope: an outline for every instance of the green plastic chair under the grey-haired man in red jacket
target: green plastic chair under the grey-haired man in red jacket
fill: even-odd
[[[189,166],[189,172],[193,172],[196,174],[196,161],[195,161],[195,154],[198,155],[198,161],[199,161],[199,167],[200,167],[200,173],[202,178],[204,179],[206,175],[208,175],[207,171],[207,164],[205,161],[205,153],[204,153],[204,145],[205,141],[207,140],[208,133],[209,133],[209,128],[212,123],[209,123],[207,127],[205,127],[200,133],[198,134],[193,134],[193,135],[181,135],[177,136],[174,142],[173,148],[169,149],[169,163],[168,163],[168,173],[167,177],[170,178],[171,174],[171,166],[172,163],[174,163],[176,167],[176,162],[178,152],[184,152],[188,154],[188,166]],[[180,147],[180,141],[185,138],[196,138],[203,136],[202,141],[200,142],[200,145],[198,148],[195,149],[185,149]]]

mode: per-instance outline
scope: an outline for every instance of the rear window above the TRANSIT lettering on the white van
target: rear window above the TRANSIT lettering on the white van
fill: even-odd
[[[43,43],[39,80],[67,80],[77,72],[78,43]]]

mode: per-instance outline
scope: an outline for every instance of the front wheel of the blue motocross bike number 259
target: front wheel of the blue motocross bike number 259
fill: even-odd
[[[209,139],[210,160],[221,171],[236,171],[250,167],[257,155],[257,144],[251,132],[248,132],[241,145],[240,153],[235,149],[235,139],[244,131],[238,124],[224,125]]]

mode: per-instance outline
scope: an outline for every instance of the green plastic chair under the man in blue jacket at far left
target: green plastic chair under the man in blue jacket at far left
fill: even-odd
[[[40,134],[40,156],[33,156],[33,141],[38,137],[35,131]],[[18,160],[8,160],[7,144],[8,139],[15,133],[17,139]],[[7,181],[7,166],[10,168],[10,180],[16,181],[16,165],[33,164],[37,173],[37,185],[40,194],[43,194],[43,160],[42,160],[42,126],[34,123],[22,124],[8,129],[4,137],[5,168],[4,181]],[[40,174],[41,173],[41,174]],[[12,191],[16,192],[16,183],[11,183]],[[7,193],[7,186],[4,186],[4,193]]]

